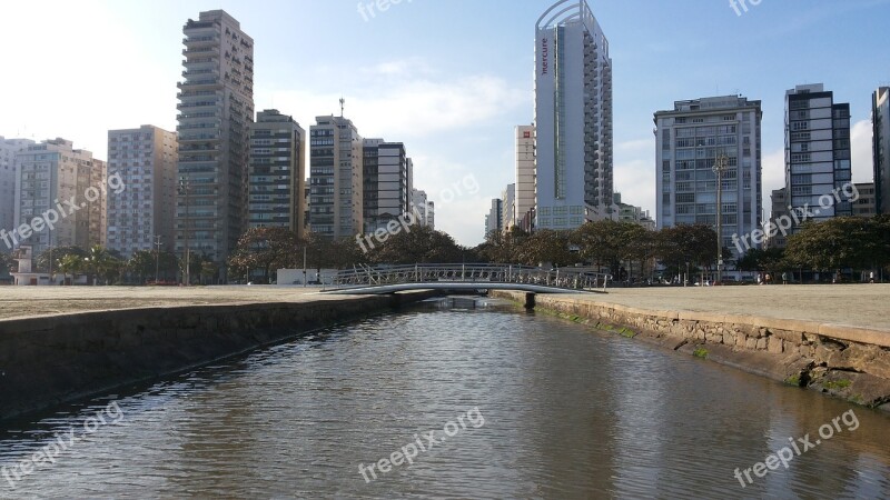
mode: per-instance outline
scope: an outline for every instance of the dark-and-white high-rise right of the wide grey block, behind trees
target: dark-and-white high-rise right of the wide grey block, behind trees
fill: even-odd
[[[835,193],[852,181],[850,104],[834,103],[822,83],[785,93],[785,189],[790,209],[821,221],[853,214],[850,200]],[[842,192],[842,191],[841,191]],[[829,207],[829,198],[832,199]],[[821,206],[820,206],[821,204]],[[808,210],[807,207],[810,207]],[[818,210],[813,208],[818,207]],[[797,232],[797,227],[791,232]]]

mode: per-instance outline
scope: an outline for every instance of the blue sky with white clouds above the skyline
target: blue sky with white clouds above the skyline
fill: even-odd
[[[742,0],[738,0],[741,2]],[[176,129],[182,26],[224,9],[255,41],[255,107],[345,116],[404,142],[436,229],[484,239],[534,120],[534,26],[552,0],[0,0],[0,136],[62,137],[107,158],[110,129]],[[653,113],[676,100],[763,102],[764,204],[783,186],[785,90],[850,102],[853,179],[872,180],[871,94],[890,86],[890,0],[589,0],[613,62],[615,190],[655,212]],[[767,212],[769,213],[769,212]]]

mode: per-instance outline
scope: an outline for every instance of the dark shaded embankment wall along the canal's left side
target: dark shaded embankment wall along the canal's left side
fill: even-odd
[[[194,369],[435,293],[0,321],[0,420]]]

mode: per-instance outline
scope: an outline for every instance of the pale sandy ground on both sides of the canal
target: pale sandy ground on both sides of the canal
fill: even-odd
[[[0,287],[0,319],[140,307],[336,300],[290,287]],[[589,297],[643,309],[800,319],[890,331],[890,284],[610,289]]]

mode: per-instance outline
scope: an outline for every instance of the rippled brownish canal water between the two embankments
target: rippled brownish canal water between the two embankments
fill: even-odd
[[[888,498],[890,417],[481,299],[17,422],[0,466],[0,498]]]

